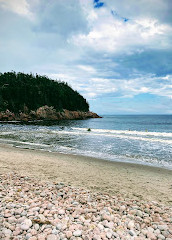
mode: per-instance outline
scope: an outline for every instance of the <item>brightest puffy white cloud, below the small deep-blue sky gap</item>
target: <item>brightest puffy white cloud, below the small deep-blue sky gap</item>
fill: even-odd
[[[79,47],[108,53],[127,51],[131,54],[138,49],[169,48],[170,25],[145,16],[129,21],[126,17],[119,17],[119,14],[112,16],[111,12],[109,8],[87,12],[90,31],[73,35],[71,41]]]

